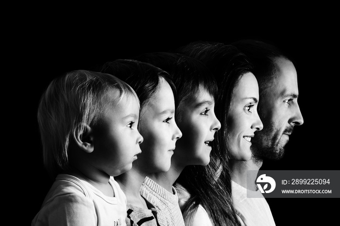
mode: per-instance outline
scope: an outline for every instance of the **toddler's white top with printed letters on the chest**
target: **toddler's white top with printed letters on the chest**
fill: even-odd
[[[32,226],[126,226],[126,196],[113,177],[109,183],[114,197],[83,179],[59,174]]]

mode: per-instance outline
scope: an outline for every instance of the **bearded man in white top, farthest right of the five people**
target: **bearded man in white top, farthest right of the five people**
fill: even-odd
[[[255,185],[257,173],[252,174],[253,178],[247,178],[247,181],[254,181],[250,185],[246,183],[244,173],[248,170],[257,172],[264,159],[281,159],[294,127],[304,123],[297,103],[297,72],[292,61],[270,44],[241,40],[231,45],[245,53],[254,66],[253,73],[259,86],[257,110],[263,123],[263,129],[257,131],[251,140],[252,158],[238,161],[237,167],[231,167],[232,198],[242,225],[258,225],[255,221],[261,219],[256,216],[256,209],[266,212],[267,219],[272,219],[272,213],[264,198],[247,198],[247,193],[252,197],[263,195]],[[264,225],[262,223],[260,225]]]

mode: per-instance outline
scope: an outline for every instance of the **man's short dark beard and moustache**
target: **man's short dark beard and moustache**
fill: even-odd
[[[274,123],[267,123],[266,129],[255,132],[250,147],[254,161],[282,159],[285,154],[285,146],[288,143],[288,141],[281,141],[282,135],[292,133],[293,129],[294,126],[289,126],[283,132],[280,132]]]

